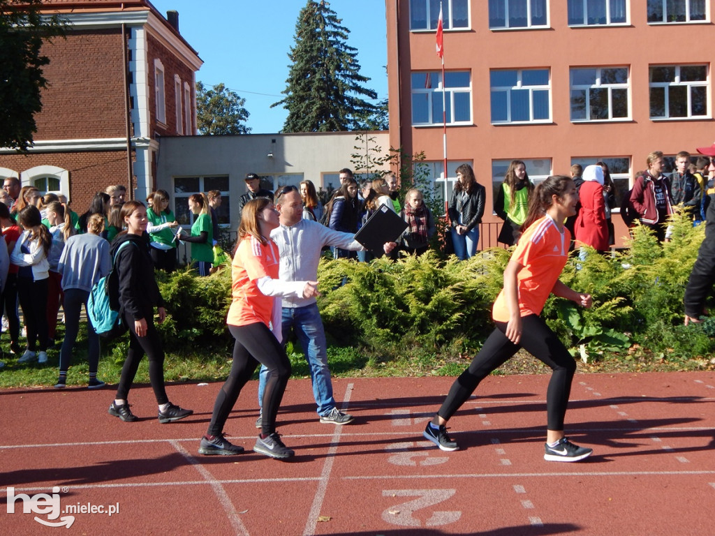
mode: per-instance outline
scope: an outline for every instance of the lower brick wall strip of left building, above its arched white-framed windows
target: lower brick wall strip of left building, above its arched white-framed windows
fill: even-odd
[[[18,174],[44,165],[69,171],[69,199],[78,214],[87,210],[95,193],[110,184],[127,184],[127,153],[122,151],[0,155],[0,167]]]

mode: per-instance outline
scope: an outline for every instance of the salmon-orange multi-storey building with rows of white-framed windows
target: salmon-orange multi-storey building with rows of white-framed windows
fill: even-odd
[[[715,138],[713,0],[442,0],[447,102],[435,54],[439,0],[386,0],[390,146],[425,152],[437,192],[459,164],[493,195],[513,159],[532,179],[606,162],[618,201],[646,155]],[[617,215],[616,236],[626,229]]]

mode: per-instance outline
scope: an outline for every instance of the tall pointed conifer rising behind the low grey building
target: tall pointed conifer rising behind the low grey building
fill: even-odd
[[[347,45],[350,30],[341,22],[325,0],[308,0],[300,11],[286,97],[271,105],[288,111],[284,132],[362,130],[375,114],[375,106],[360,97],[377,94],[361,85],[370,79],[360,74],[358,51]]]

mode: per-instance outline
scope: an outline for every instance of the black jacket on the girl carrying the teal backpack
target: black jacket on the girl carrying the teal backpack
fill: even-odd
[[[124,242],[133,242],[122,248],[114,261],[114,271],[119,281],[119,310],[129,312],[134,320],[152,317],[154,307],[164,307],[164,299],[154,278],[154,262],[149,254],[149,234],[121,234],[112,242],[112,259]],[[136,246],[136,247],[134,247]]]

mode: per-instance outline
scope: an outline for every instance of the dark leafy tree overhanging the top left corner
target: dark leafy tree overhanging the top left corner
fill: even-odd
[[[34,116],[42,109],[47,85],[41,54],[44,41],[64,35],[58,16],[43,18],[41,0],[0,0],[0,147],[26,151],[37,131]]]

